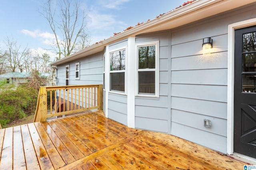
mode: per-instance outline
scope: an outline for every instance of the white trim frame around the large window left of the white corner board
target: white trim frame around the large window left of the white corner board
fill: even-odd
[[[116,51],[121,51],[121,50],[125,50],[125,70],[115,70],[115,71],[110,71],[110,53],[113,53],[113,52],[116,52]],[[109,86],[109,93],[114,93],[114,94],[122,94],[122,95],[127,95],[127,56],[128,56],[128,50],[127,50],[127,46],[125,47],[120,47],[118,49],[114,49],[114,50],[111,50],[109,51],[109,61],[108,61],[108,69],[109,70],[109,74],[113,73],[113,72],[124,72],[124,92],[121,92],[121,91],[114,91],[114,90],[111,90],[111,86]],[[108,83],[110,84],[110,75],[109,75],[109,80],[108,80]],[[105,84],[106,84],[106,79],[105,79]]]

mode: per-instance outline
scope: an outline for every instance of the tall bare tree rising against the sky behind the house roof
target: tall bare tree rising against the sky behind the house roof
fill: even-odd
[[[59,59],[70,55],[75,48],[77,49],[78,41],[84,42],[80,49],[87,44],[85,43],[88,37],[86,33],[87,14],[80,5],[79,0],[47,0],[42,5],[42,11],[39,12],[47,20],[55,35]],[[59,32],[62,37],[58,36]]]

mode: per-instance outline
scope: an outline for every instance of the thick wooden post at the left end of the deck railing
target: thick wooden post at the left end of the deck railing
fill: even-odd
[[[40,87],[40,110],[39,113],[41,115],[40,122],[46,121],[47,115],[47,92],[46,87]]]

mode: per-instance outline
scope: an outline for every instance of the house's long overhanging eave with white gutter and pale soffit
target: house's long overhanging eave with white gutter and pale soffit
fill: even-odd
[[[159,17],[148,22],[138,24],[136,27],[130,27],[122,33],[116,33],[114,36],[95,43],[81,51],[73,53],[67,57],[57,60],[50,65],[57,66],[68,63],[75,59],[80,59],[104,50],[106,45],[116,41],[136,36],[142,33],[150,33],[154,31],[162,31],[179,27],[194,21],[198,21],[240,6],[244,6],[255,2],[255,0],[196,0],[187,3],[184,6],[176,8],[166,14],[160,14]],[[210,36],[210,35],[208,35]]]

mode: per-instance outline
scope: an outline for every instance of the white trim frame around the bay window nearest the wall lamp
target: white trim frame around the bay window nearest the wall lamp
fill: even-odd
[[[155,70],[155,94],[138,94],[138,47],[142,46],[150,46],[150,45],[156,45],[156,68]],[[135,57],[135,63],[136,63],[136,88],[135,88],[135,95],[140,97],[153,97],[153,98],[159,98],[159,41],[151,41],[151,42],[145,42],[145,43],[138,43],[135,45],[136,47],[136,57]],[[141,71],[148,69],[140,69]],[[151,69],[152,70],[152,69]]]

